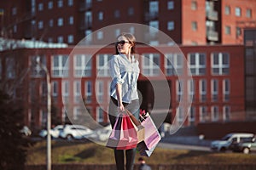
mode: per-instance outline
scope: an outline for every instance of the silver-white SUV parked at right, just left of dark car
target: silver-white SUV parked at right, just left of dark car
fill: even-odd
[[[228,133],[221,140],[213,140],[211,143],[211,150],[232,150],[235,144],[239,144],[243,140],[253,138],[253,136],[253,133]]]

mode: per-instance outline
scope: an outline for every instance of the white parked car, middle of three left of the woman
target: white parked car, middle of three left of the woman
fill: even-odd
[[[89,127],[82,125],[65,125],[63,130],[61,130],[60,137],[68,140],[84,139],[91,133],[93,133],[93,131]]]

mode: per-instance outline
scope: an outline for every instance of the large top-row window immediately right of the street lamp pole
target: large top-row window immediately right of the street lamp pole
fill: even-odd
[[[51,67],[52,77],[68,76],[68,55],[54,55]],[[67,64],[66,64],[67,63]]]

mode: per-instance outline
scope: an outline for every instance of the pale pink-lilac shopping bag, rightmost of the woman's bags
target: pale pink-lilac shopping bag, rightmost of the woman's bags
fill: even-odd
[[[142,119],[142,125],[146,129],[145,139],[137,144],[137,150],[140,152],[141,156],[150,156],[156,145],[160,142],[161,136],[149,114],[147,114]]]

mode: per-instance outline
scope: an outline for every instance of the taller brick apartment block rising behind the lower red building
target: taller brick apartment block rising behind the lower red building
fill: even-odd
[[[256,26],[254,0],[119,3],[118,0],[1,0],[1,35],[74,45],[102,27],[138,23],[163,31],[177,44],[242,44],[244,28]],[[96,39],[101,41],[106,34],[118,35],[121,31],[102,32]],[[154,30],[143,36],[148,43],[161,43]]]

